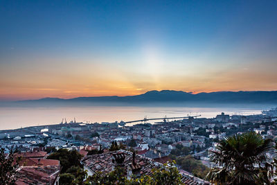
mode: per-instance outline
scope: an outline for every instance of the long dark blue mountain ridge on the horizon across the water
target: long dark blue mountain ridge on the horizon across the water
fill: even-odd
[[[190,94],[184,91],[148,91],[136,96],[94,96],[71,99],[42,98],[17,103],[85,103],[93,104],[136,104],[136,103],[277,103],[277,91],[217,91]]]

